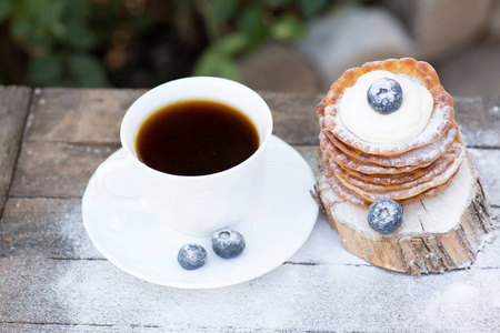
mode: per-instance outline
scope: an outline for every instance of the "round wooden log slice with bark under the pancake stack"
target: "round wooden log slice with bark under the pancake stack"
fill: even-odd
[[[343,246],[370,263],[413,275],[469,268],[496,224],[469,153],[437,195],[402,205],[403,223],[382,235],[367,222],[368,209],[340,199],[320,171],[318,196]]]

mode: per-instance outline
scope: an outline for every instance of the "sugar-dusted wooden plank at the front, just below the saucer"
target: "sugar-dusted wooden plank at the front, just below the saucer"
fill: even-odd
[[[286,264],[236,286],[174,290],[107,261],[10,258],[0,264],[0,316],[10,323],[189,332],[492,332],[500,325],[492,269],[417,279],[363,265]]]

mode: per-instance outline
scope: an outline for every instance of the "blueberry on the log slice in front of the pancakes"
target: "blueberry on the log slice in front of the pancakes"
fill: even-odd
[[[401,205],[391,199],[378,200],[370,205],[367,220],[378,233],[393,233],[402,223]]]

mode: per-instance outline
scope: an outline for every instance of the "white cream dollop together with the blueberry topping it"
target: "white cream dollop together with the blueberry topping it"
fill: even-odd
[[[417,138],[427,127],[433,99],[419,81],[376,70],[347,88],[337,108],[343,125],[359,139],[402,143]]]

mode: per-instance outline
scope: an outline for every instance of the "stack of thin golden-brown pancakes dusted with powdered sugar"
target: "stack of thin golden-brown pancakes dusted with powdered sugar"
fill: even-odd
[[[430,120],[416,138],[400,143],[371,143],[343,125],[339,105],[344,90],[374,70],[406,75],[431,93]],[[411,58],[370,62],[346,71],[331,85],[317,113],[323,173],[340,198],[358,205],[369,206],[380,199],[402,204],[434,195],[457,173],[466,153],[450,94],[430,64]]]

